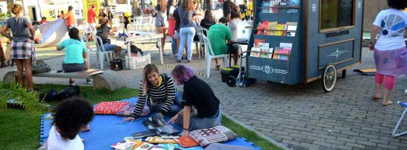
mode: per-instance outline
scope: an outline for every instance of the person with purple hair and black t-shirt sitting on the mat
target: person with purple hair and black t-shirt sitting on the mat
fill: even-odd
[[[220,101],[207,83],[195,76],[193,70],[185,65],[177,65],[171,72],[178,85],[184,85],[181,110],[167,123],[183,126],[182,136],[189,130],[210,128],[221,124]]]

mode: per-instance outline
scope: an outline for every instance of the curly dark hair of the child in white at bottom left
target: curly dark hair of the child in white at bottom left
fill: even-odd
[[[52,122],[63,138],[73,140],[80,129],[87,125],[95,114],[83,98],[73,97],[61,102],[52,112]]]

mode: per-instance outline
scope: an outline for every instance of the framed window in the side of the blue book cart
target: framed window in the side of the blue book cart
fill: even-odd
[[[354,7],[354,0],[320,0],[320,30],[341,30],[352,27]]]

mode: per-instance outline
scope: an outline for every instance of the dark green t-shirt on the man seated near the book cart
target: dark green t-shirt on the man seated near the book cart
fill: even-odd
[[[231,39],[231,31],[229,27],[223,24],[216,24],[209,28],[209,40],[211,41],[212,49],[215,55],[227,53],[227,39]]]

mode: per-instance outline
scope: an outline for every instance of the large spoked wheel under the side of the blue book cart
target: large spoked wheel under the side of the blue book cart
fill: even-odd
[[[336,84],[336,68],[333,64],[328,64],[322,72],[322,89],[325,92],[331,92]]]

